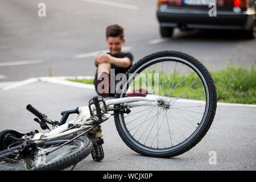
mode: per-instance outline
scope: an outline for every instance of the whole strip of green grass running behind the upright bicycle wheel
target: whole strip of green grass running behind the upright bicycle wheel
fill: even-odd
[[[210,72],[216,85],[218,102],[256,104],[256,70],[254,65],[255,63],[251,65],[250,69],[246,69],[242,66],[233,66],[230,64],[230,62],[228,62],[226,68],[220,69],[216,72]],[[192,76],[189,76],[186,81],[181,82],[179,86],[175,88],[174,92],[172,92],[172,90],[170,91],[170,87],[172,86],[174,88],[177,82],[182,81],[184,77],[185,75],[177,76],[176,72],[170,73],[169,75],[159,73],[160,85],[164,80],[163,94],[171,97],[185,96],[185,98],[198,98],[199,100],[204,100],[205,95],[204,93],[200,92],[203,89],[203,85],[200,85],[200,80],[195,81],[197,79],[196,74],[192,74]],[[133,89],[137,89],[139,85],[141,85],[142,88],[145,88],[145,85],[140,83],[138,79],[139,78],[135,78],[134,81],[137,82],[137,84],[134,84]],[[93,84],[93,79],[75,79],[71,81],[82,82],[84,84]],[[154,85],[154,76],[151,78],[151,81],[152,85]],[[193,81],[195,82],[190,85]],[[156,85],[156,87],[158,88],[159,86]],[[193,88],[193,90],[191,90],[191,88]],[[155,91],[157,91],[162,95],[159,89],[154,89],[154,86],[152,86],[149,92],[155,93]]]

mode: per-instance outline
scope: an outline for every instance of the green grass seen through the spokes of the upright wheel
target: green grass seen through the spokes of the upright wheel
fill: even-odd
[[[192,72],[186,74],[180,74],[176,71],[171,73],[159,72],[159,74],[154,74],[155,72],[144,72],[142,76],[138,76],[134,79],[133,89],[138,89],[139,87],[146,88],[148,92],[156,95],[164,95],[166,97],[179,97],[179,98],[193,98],[196,100],[205,100],[205,93],[201,92],[204,90],[203,84],[201,84],[200,78]],[[150,77],[147,77],[147,73]],[[142,81],[147,83],[147,85],[142,84]]]

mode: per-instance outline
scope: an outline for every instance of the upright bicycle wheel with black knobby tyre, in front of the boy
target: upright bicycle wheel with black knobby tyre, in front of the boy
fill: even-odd
[[[134,64],[126,78],[116,98],[126,97],[127,90],[147,90],[142,96],[155,100],[131,107],[129,114],[114,113],[118,133],[132,150],[146,156],[177,156],[209,130],[216,112],[216,88],[194,57],[178,51],[152,53]]]

